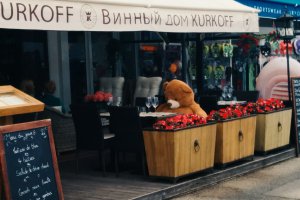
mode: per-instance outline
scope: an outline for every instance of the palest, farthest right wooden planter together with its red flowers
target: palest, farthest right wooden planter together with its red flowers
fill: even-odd
[[[255,152],[267,153],[289,145],[292,109],[279,99],[258,99],[247,110],[256,113]]]

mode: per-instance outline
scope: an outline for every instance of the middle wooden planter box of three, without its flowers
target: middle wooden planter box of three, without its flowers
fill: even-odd
[[[217,123],[215,163],[227,164],[254,155],[256,116]]]

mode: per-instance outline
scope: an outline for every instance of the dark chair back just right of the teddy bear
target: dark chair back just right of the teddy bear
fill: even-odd
[[[199,95],[197,96],[197,102],[207,114],[212,110],[219,109],[217,95]]]

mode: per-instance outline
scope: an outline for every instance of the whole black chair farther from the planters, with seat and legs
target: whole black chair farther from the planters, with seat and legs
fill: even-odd
[[[79,168],[80,150],[97,150],[101,161],[103,176],[106,174],[105,150],[112,147],[113,135],[105,135],[101,118],[95,104],[71,105],[72,117],[76,130],[76,161]]]

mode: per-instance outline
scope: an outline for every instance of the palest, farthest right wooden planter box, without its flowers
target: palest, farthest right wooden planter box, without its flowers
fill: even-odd
[[[257,114],[255,151],[266,152],[290,143],[292,109]]]

